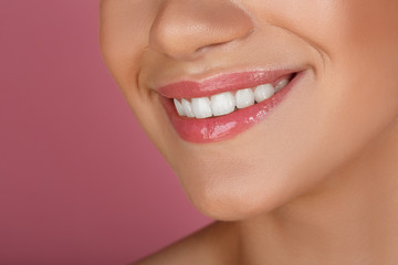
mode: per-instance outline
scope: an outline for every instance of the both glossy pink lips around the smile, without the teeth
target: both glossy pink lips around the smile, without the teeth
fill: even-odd
[[[261,74],[263,73],[263,74]],[[207,144],[230,139],[235,135],[251,128],[271,114],[301,80],[304,72],[295,73],[293,80],[272,97],[254,104],[250,107],[234,110],[231,114],[205,119],[181,117],[174,106],[172,98],[192,98],[209,96],[226,91],[253,87],[261,84],[272,83],[279,77],[286,75],[282,72],[245,72],[221,75],[206,80],[202,83],[179,82],[159,88],[161,104],[164,105],[169,120],[177,134],[186,141]]]

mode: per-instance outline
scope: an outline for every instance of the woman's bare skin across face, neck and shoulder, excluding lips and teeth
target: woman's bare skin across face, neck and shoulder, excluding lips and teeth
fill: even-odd
[[[104,60],[133,113],[191,202],[220,220],[143,264],[187,264],[192,246],[206,264],[396,264],[398,1],[103,0],[101,11]],[[159,84],[275,67],[305,75],[232,138],[184,140],[160,104]]]

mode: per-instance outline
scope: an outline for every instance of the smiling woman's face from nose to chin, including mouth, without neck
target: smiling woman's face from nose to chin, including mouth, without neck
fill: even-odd
[[[109,72],[212,218],[248,219],[305,193],[397,117],[396,0],[103,0],[101,9]]]

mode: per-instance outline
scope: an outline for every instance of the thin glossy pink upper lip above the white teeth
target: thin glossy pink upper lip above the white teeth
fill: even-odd
[[[261,84],[274,82],[300,72],[298,70],[249,71],[219,74],[202,81],[179,81],[157,88],[157,92],[168,98],[206,97],[222,92],[251,88]]]

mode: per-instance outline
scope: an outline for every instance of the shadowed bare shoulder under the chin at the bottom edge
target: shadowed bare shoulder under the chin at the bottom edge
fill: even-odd
[[[233,226],[231,222],[214,222],[130,265],[232,264],[228,259],[238,242]]]

